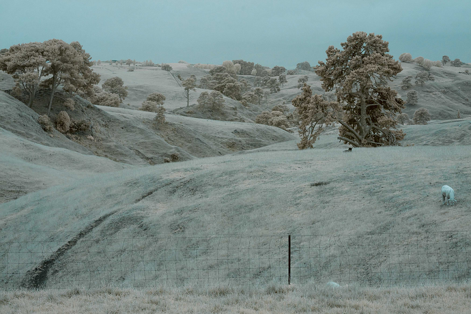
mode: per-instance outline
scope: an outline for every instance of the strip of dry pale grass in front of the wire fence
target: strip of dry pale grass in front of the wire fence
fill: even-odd
[[[471,285],[0,292],[0,313],[470,313]]]

